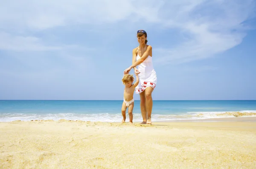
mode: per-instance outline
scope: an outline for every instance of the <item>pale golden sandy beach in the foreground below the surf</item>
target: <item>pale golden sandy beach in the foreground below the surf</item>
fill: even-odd
[[[1,122],[0,168],[255,169],[255,121]]]

